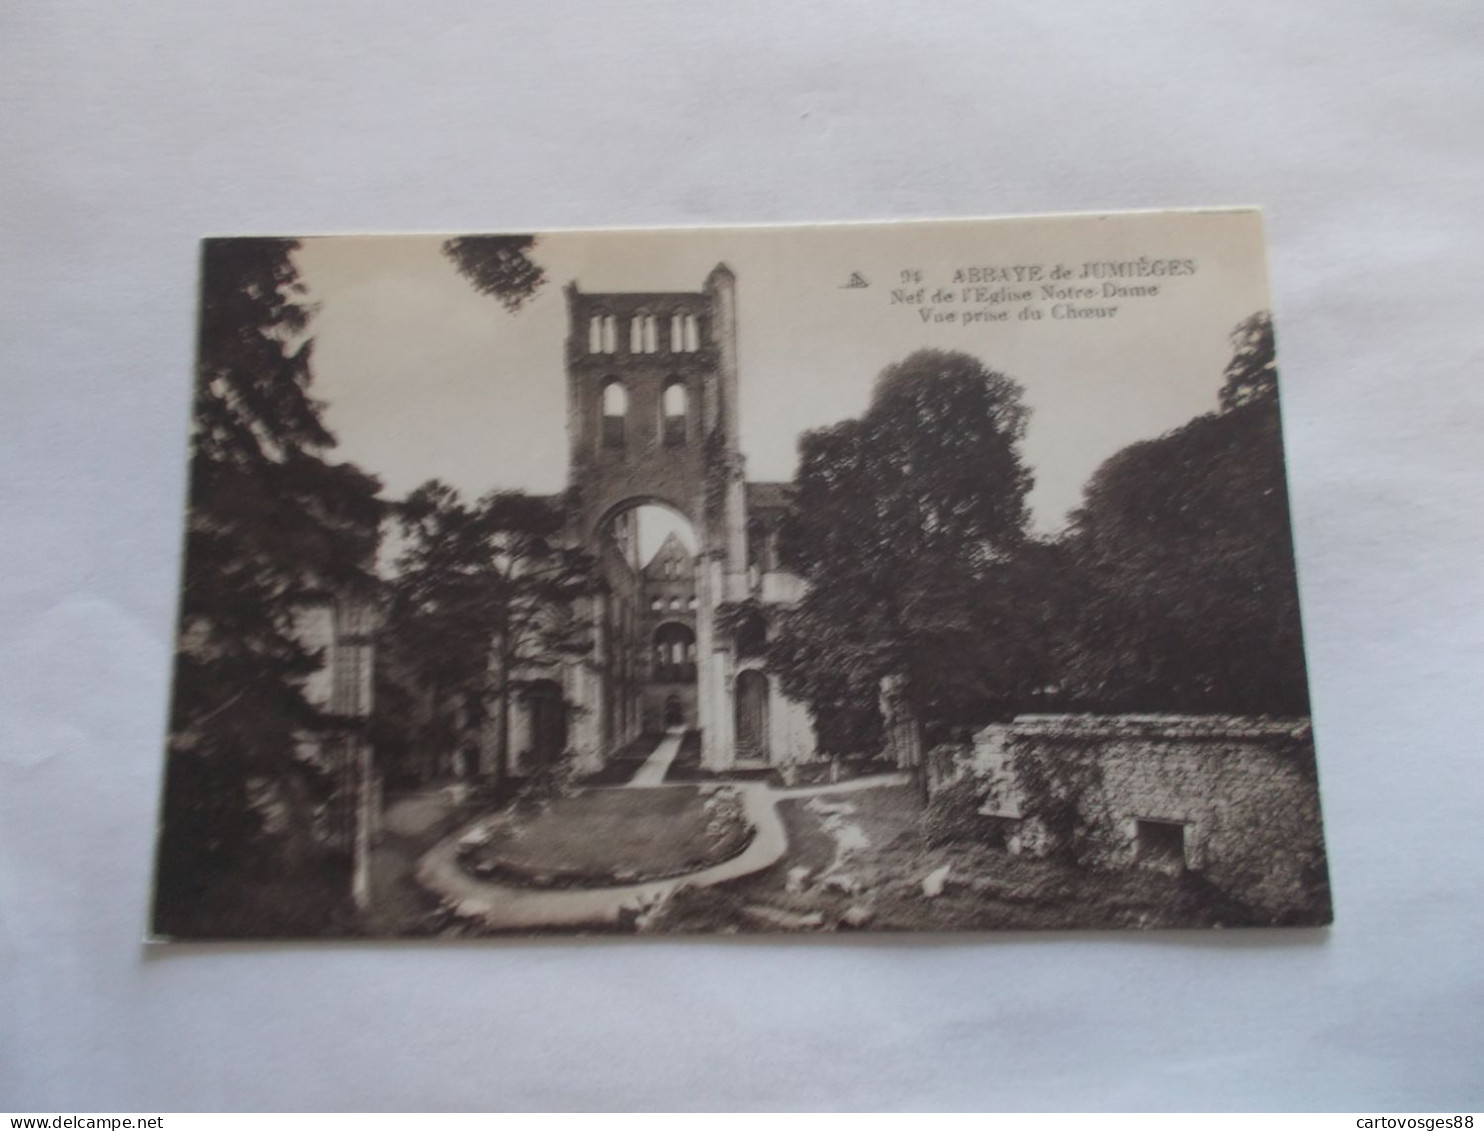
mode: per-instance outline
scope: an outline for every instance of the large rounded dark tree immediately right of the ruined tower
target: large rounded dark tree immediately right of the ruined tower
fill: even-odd
[[[1000,594],[1031,475],[1021,389],[965,353],[889,367],[859,420],[806,433],[785,564],[809,582],[772,662],[816,718],[874,702],[893,675],[920,720],[962,723],[1014,699],[1022,637]]]

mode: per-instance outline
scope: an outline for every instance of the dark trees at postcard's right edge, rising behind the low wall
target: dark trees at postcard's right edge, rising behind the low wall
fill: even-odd
[[[1306,714],[1272,324],[1233,334],[1218,413],[1107,460],[1067,551],[1067,687],[1112,709]]]

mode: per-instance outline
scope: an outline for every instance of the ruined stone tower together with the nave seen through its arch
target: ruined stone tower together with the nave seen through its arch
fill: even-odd
[[[567,307],[571,537],[601,560],[605,594],[574,693],[601,720],[589,748],[683,726],[702,764],[726,769],[736,656],[717,612],[748,595],[736,279],[718,264],[696,291],[573,282]]]

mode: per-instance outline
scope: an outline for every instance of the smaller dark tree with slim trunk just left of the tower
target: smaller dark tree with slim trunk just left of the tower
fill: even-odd
[[[558,500],[497,491],[466,503],[429,481],[398,509],[392,631],[420,678],[456,702],[464,724],[497,723],[496,788],[510,773],[510,708],[527,680],[591,647],[576,614],[592,561],[562,545]]]

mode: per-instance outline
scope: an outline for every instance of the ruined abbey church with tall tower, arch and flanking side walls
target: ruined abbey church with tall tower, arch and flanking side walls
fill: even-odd
[[[579,769],[674,729],[699,732],[705,770],[813,758],[809,714],[760,647],[766,610],[803,585],[776,554],[787,484],[743,473],[736,278],[718,264],[699,291],[573,282],[565,294],[570,536],[603,577],[588,610],[595,647],[561,680]],[[695,554],[671,539],[640,561],[640,506],[684,518]]]

